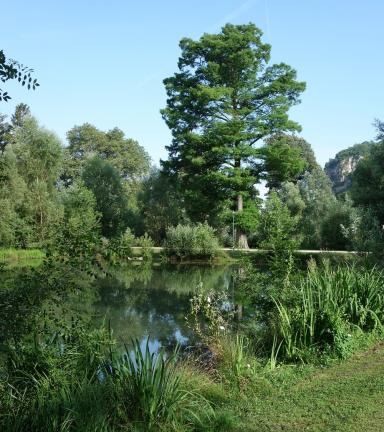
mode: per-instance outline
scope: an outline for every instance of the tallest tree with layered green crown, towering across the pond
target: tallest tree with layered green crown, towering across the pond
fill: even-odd
[[[280,63],[267,66],[271,47],[252,23],[224,26],[199,41],[182,39],[179,71],[164,80],[172,131],[165,171],[182,179],[186,199],[201,215],[216,207],[242,211],[255,195],[268,156],[268,135],[300,131],[288,110],[300,102],[304,82]],[[246,247],[242,227],[237,242]]]

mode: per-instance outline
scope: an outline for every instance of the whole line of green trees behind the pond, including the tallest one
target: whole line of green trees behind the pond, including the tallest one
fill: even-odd
[[[129,228],[161,245],[169,227],[206,222],[230,245],[234,213],[240,247],[268,245],[266,227],[273,232],[280,214],[301,247],[341,249],[360,217],[354,204],[374,207],[384,223],[383,124],[376,121],[377,146],[356,170],[354,201],[338,201],[288,116],[306,85],[290,66],[268,65],[261,35],[252,23],[227,24],[199,41],[182,39],[179,72],[164,80],[161,114],[173,139],[160,169],[118,128],[75,126],[64,147],[24,104],[10,123],[1,116],[0,245],[45,244],[63,227],[105,237]],[[7,67],[3,61],[3,76]],[[273,196],[265,206],[261,181]]]

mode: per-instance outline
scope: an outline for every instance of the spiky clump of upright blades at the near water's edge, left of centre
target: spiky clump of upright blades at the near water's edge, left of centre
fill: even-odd
[[[145,424],[149,429],[158,422],[175,428],[181,417],[200,423],[196,413],[202,404],[211,410],[202,396],[186,388],[184,372],[178,364],[179,346],[168,356],[165,347],[159,353],[151,354],[149,338],[144,352],[139,341],[133,339],[132,355],[128,354],[127,346],[125,350],[118,367],[115,360],[105,362],[103,371],[112,379],[117,373],[120,387],[118,402],[124,405],[130,421]]]

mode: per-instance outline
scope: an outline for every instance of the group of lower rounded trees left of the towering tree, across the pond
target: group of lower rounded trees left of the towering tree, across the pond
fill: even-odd
[[[63,228],[105,237],[135,223],[140,179],[150,158],[115,128],[76,126],[69,146],[19,104],[0,123],[0,244],[44,245]]]

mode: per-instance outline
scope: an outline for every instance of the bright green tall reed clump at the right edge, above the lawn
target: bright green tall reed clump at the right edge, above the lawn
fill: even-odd
[[[300,301],[288,308],[278,299],[279,332],[288,360],[333,351],[341,358],[353,352],[353,336],[383,329],[384,279],[375,268],[355,265],[322,268],[311,263],[296,287]]]

